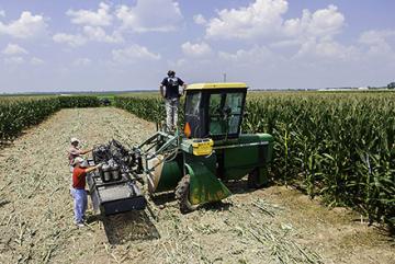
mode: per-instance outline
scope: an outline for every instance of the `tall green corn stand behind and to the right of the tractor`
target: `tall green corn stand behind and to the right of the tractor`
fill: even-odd
[[[150,122],[165,116],[158,97],[115,104]],[[246,111],[242,131],[274,136],[276,182],[395,223],[394,93],[250,93]]]

